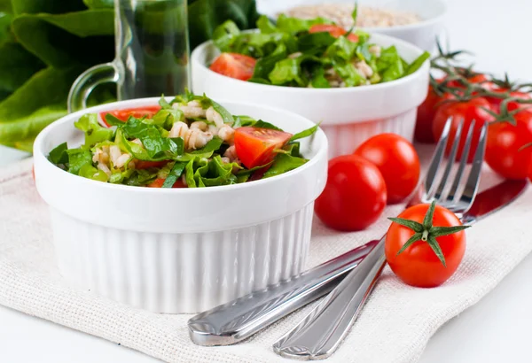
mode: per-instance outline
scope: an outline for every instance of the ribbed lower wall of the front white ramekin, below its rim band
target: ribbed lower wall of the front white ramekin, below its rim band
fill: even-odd
[[[130,232],[51,208],[58,266],[74,286],[155,313],[198,313],[299,274],[314,205],[248,228]]]

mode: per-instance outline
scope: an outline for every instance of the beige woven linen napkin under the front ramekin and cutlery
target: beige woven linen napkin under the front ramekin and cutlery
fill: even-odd
[[[37,195],[31,160],[0,170],[0,305],[54,321],[168,362],[288,362],[271,344],[309,312],[293,313],[241,344],[205,348],[190,341],[190,315],[148,313],[66,285],[54,265],[47,207]],[[483,182],[493,183],[486,170]],[[388,216],[401,206],[388,208]],[[449,282],[415,289],[387,268],[360,319],[331,362],[412,362],[434,332],[492,290],[529,251],[532,188],[505,209],[467,230],[465,259]],[[308,267],[380,237],[383,217],[371,229],[337,233],[318,221]]]

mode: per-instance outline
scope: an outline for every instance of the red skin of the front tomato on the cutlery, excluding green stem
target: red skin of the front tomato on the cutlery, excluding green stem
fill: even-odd
[[[422,223],[428,205],[414,205],[399,215],[399,218]],[[457,216],[439,205],[434,210],[434,227],[461,226]],[[439,286],[455,273],[465,253],[465,233],[459,231],[448,236],[436,237],[442,249],[446,266],[438,259],[430,245],[424,241],[412,243],[406,250],[397,254],[414,231],[397,223],[392,223],[387,231],[385,253],[388,265],[403,282],[422,288]]]

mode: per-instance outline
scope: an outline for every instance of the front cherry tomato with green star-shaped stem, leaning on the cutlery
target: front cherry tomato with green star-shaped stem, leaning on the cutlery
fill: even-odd
[[[403,282],[432,288],[455,273],[464,257],[467,226],[453,212],[435,204],[414,205],[390,220],[394,223],[386,235],[386,259]]]

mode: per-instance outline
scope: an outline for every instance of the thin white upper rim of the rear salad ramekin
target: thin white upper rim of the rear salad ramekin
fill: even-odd
[[[255,30],[256,29],[251,29],[250,31],[255,31]],[[425,50],[421,50],[416,45],[414,45],[414,44],[412,44],[410,42],[403,41],[402,39],[395,38],[394,36],[391,36],[391,35],[384,35],[384,34],[379,34],[379,33],[371,33],[371,36],[372,37],[376,37],[378,39],[380,38],[382,40],[387,40],[389,42],[393,42],[393,45],[395,45],[395,47],[397,47],[397,48],[401,47],[402,49],[410,49],[413,52],[419,53],[418,57],[425,52]],[[220,74],[220,73],[215,73],[214,71],[211,71],[205,64],[203,64],[203,62],[201,62],[200,59],[199,59],[200,52],[205,50],[205,49],[207,49],[207,47],[209,47],[209,46],[215,46],[214,42],[212,40],[209,40],[207,42],[202,42],[194,50],[192,50],[192,54],[191,54],[191,64],[192,65],[197,64],[198,66],[203,67],[204,70],[207,70],[207,73],[213,73],[215,76],[223,77],[223,80],[225,80],[225,81],[244,82],[244,84],[246,84],[246,86],[249,86],[249,87],[252,87],[252,88],[257,88],[257,89],[260,89],[260,88],[263,88],[263,87],[276,88],[278,90],[283,89],[286,92],[308,92],[308,93],[322,93],[322,94],[343,93],[343,92],[356,93],[356,92],[364,92],[365,90],[368,90],[368,89],[376,89],[376,90],[378,90],[378,89],[386,89],[387,87],[401,86],[402,84],[408,83],[409,81],[417,78],[420,73],[424,72],[424,69],[425,69],[427,63],[430,60],[430,59],[426,59],[426,61],[423,63],[423,65],[420,66],[416,70],[416,72],[411,73],[411,74],[409,74],[407,76],[404,76],[404,77],[402,77],[402,78],[400,78],[398,80],[394,80],[394,81],[387,81],[387,82],[384,82],[384,83],[368,84],[368,85],[362,85],[362,86],[356,86],[356,87],[331,88],[331,89],[311,89],[311,88],[306,88],[306,87],[287,87],[287,86],[278,86],[278,85],[273,85],[273,84],[262,84],[262,83],[254,83],[254,82],[249,82],[249,81],[240,81],[240,80],[225,76],[225,75]],[[401,50],[397,49],[397,51],[401,55]]]

